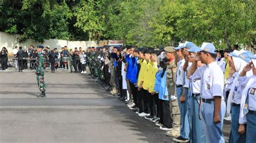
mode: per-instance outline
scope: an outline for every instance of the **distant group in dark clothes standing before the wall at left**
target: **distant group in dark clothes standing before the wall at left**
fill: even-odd
[[[17,47],[17,53],[14,54],[15,67],[22,72],[24,69],[28,69],[28,60],[30,60],[29,69],[35,70],[38,63],[36,62],[36,58],[38,57],[37,49],[30,45],[28,49]],[[43,49],[44,54],[44,67],[45,69],[51,69],[52,72],[55,72],[57,68],[71,69],[70,72],[73,72],[75,69],[75,73],[82,72],[86,73],[86,55],[85,51],[82,51],[82,47],[79,47],[79,51],[75,48],[75,51],[72,49],[68,49],[67,46],[61,48],[61,51],[58,52],[57,48],[50,49],[49,46],[45,46]],[[1,66],[2,70],[8,68],[8,51],[5,47],[2,48],[1,54]],[[63,59],[66,59],[63,61]]]

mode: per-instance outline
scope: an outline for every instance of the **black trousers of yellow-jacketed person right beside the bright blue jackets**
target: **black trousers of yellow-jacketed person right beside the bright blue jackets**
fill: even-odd
[[[138,105],[139,105],[139,113],[149,113],[149,106],[147,105],[147,94],[146,90],[140,89],[138,92]]]

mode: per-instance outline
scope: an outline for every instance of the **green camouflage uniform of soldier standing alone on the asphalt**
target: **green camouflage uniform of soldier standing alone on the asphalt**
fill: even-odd
[[[43,52],[38,52],[38,67],[36,69],[37,85],[40,91],[45,91],[44,83],[44,55]]]

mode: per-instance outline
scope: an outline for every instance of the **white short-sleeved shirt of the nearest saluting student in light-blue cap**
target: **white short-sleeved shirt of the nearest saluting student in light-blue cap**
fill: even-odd
[[[201,66],[193,76],[194,78],[201,78],[202,98],[213,99],[214,96],[221,96],[221,99],[224,99],[224,73],[217,62],[214,61],[207,66]]]

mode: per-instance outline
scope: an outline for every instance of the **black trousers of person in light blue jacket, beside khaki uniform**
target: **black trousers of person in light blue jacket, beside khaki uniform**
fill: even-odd
[[[159,123],[163,124],[165,127],[172,128],[172,118],[170,112],[170,103],[169,101],[164,101],[159,99]]]

